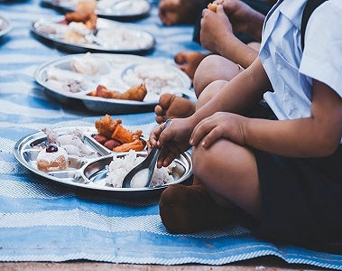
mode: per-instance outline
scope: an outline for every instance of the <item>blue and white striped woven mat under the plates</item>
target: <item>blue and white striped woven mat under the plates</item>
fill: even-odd
[[[137,22],[156,37],[148,57],[173,62],[178,51],[199,50],[192,27],[162,27],[157,2],[151,16]],[[92,197],[39,179],[14,158],[15,143],[47,124],[93,126],[98,114],[62,106],[33,79],[45,61],[66,52],[36,40],[29,26],[58,12],[39,0],[0,3],[0,16],[13,29],[0,40],[0,261],[88,259],[131,264],[224,265],[276,256],[291,264],[342,270],[342,255],[272,244],[241,225],[194,235],[171,235],[163,227],[156,201],[124,202]],[[115,116],[125,126],[148,133],[152,112]]]

